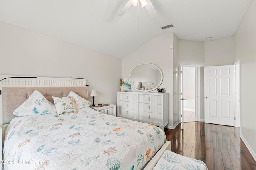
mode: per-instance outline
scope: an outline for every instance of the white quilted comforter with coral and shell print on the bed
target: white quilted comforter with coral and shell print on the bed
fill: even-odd
[[[6,170],[139,170],[164,145],[154,125],[86,107],[15,117],[5,132]]]

